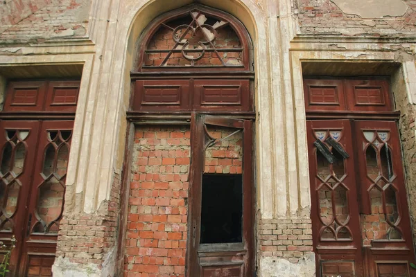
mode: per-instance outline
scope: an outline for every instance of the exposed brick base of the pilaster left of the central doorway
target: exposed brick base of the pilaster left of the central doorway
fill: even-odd
[[[94,214],[64,213],[60,221],[53,276],[114,276],[117,204],[118,199],[102,203]]]

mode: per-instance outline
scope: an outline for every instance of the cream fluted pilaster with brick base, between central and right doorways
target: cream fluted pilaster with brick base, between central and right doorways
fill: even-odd
[[[293,82],[289,55],[296,22],[292,1],[268,3],[273,199],[272,213],[259,215],[259,276],[313,276],[306,121],[304,113],[295,114],[295,109],[304,111],[304,102],[293,94],[300,85]]]

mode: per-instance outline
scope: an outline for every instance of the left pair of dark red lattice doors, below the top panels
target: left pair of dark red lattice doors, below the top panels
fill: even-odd
[[[1,235],[10,239],[13,233],[17,239],[17,248],[10,260],[11,276],[52,276],[72,127],[73,121],[1,122],[0,132],[6,134],[1,138],[5,145],[1,161],[2,186],[8,182],[1,224],[15,224],[14,232]],[[21,157],[20,160],[17,157]],[[19,175],[16,165],[21,166]],[[8,173],[3,170],[7,167],[11,168]],[[15,183],[8,180],[10,176],[15,176]],[[6,211],[11,208],[12,201],[8,201],[11,195],[18,196],[17,208],[12,208],[16,212],[9,212],[9,215]]]

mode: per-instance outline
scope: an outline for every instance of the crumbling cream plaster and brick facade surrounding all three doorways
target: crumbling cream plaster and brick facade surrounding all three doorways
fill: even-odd
[[[329,0],[302,1],[200,1],[208,6],[230,12],[241,19],[248,28],[254,43],[255,99],[258,112],[256,120],[256,186],[257,220],[259,223],[257,229],[270,230],[266,233],[270,232],[272,235],[270,238],[262,238],[261,235],[268,234],[259,232],[258,236],[258,240],[264,242],[264,244],[258,243],[258,275],[264,277],[291,276],[290,274],[313,276],[313,272],[315,272],[314,256],[308,253],[310,251],[307,248],[310,244],[310,237],[307,237],[308,233],[303,233],[303,230],[307,229],[304,224],[310,224],[310,195],[300,62],[302,60],[393,62],[399,61],[395,57],[395,53],[398,51],[412,52],[415,45],[406,39],[403,40],[403,44],[385,43],[385,40],[371,38],[372,35],[369,35],[370,39],[364,42],[360,39],[359,42],[353,41],[354,43],[351,43],[342,36],[360,34],[364,36],[367,32],[374,34],[373,37],[380,37],[390,32],[392,36],[399,34],[401,37],[406,37],[412,33],[412,24],[414,24],[411,23],[413,22],[413,13],[412,16],[407,15],[409,10],[404,17],[395,17],[394,20],[389,21],[390,24],[396,21],[404,24],[402,28],[399,28],[401,25],[398,25],[401,33],[397,33],[397,29],[379,28],[376,24],[372,28],[374,22],[384,26],[385,24],[382,24],[381,21],[388,18],[362,19],[356,15],[345,15]],[[29,8],[21,12],[22,18],[19,19],[21,23],[26,23],[26,26],[31,26],[28,19],[31,18],[30,15],[33,12],[48,11],[46,6],[41,7],[42,3],[49,3],[47,5],[55,3],[52,0],[36,1],[37,8],[33,8],[30,7],[29,2],[33,3],[34,1],[26,0],[25,3]],[[6,1],[6,3],[9,4],[10,1]],[[67,7],[71,6],[71,3],[75,3],[75,6],[76,3],[82,3],[77,7],[89,6],[88,1],[78,0],[62,0],[56,1],[56,3],[64,3],[62,5],[67,5]],[[0,35],[0,65],[85,62],[65,197],[65,213],[74,217],[71,220],[78,220],[78,222],[70,223],[68,221],[68,226],[78,226],[80,225],[79,220],[87,220],[87,218],[75,219],[75,216],[91,216],[94,217],[95,226],[100,229],[98,232],[106,233],[105,228],[110,229],[110,232],[114,231],[114,226],[104,224],[103,222],[108,221],[101,217],[111,215],[113,218],[110,222],[114,222],[114,213],[116,213],[114,211],[116,205],[114,206],[114,204],[117,204],[118,200],[119,177],[124,159],[125,129],[127,127],[125,111],[130,96],[129,72],[134,68],[135,43],[151,19],[162,12],[179,8],[191,3],[191,1],[163,1],[163,5],[160,3],[159,0],[94,0],[89,15],[88,33],[77,33],[74,28],[73,35],[71,35],[71,31],[67,31],[69,36],[63,37],[60,44],[58,44],[58,39],[50,38],[56,37],[55,34],[61,33],[62,35],[62,32],[67,35],[65,30],[68,29],[67,27],[62,30],[58,28],[57,33],[55,30],[53,33],[45,33],[46,25],[51,24],[51,21],[47,21],[47,23],[43,21],[42,23],[43,19],[37,19],[40,22],[35,26],[40,26],[40,33],[10,34],[8,30],[3,30],[0,27],[1,33],[6,32],[7,35],[5,37]],[[307,6],[309,3],[312,3],[312,6]],[[412,1],[406,1],[406,3],[410,6]],[[329,8],[326,10],[320,8],[324,4],[327,4]],[[302,7],[306,6],[312,8],[302,10]],[[85,12],[84,8],[82,8],[83,12]],[[340,22],[347,27],[336,27],[336,31],[326,29],[338,26],[339,23],[331,21],[331,10],[334,15],[342,15]],[[83,14],[77,8],[69,8],[65,12],[58,12],[56,17],[60,17],[60,15],[64,17],[66,12],[75,13],[75,16],[79,15],[80,17]],[[78,12],[80,13],[78,14]],[[28,15],[24,17],[25,14]],[[318,14],[322,16],[317,16]],[[82,17],[83,20],[88,18],[88,16]],[[78,21],[73,18],[71,16],[70,22],[66,25],[71,30],[73,28],[71,22],[81,22],[86,26],[86,21]],[[336,16],[333,18],[337,19]],[[16,24],[16,22],[10,21],[10,18],[8,20],[5,21],[6,25],[14,26]],[[308,23],[309,20],[311,22]],[[364,24],[363,28],[361,21],[368,22],[370,25]],[[307,26],[307,24],[311,24],[311,26]],[[83,24],[81,25],[83,26]],[[296,29],[295,26],[299,28]],[[35,30],[35,28],[33,29]],[[78,29],[82,30],[82,28]],[[26,30],[21,30],[26,32]],[[294,38],[296,33],[302,36],[328,34],[336,35],[337,38],[326,39],[316,36],[312,42],[304,42],[302,39]],[[79,39],[79,36],[84,36],[85,40],[80,40],[78,46],[71,45],[71,38]],[[36,44],[36,47],[23,47],[17,44],[19,42],[42,42],[44,38],[50,44]],[[67,41],[65,42],[65,40]],[[91,41],[94,42],[94,45]],[[407,57],[406,61],[414,62],[414,59]],[[406,80],[415,80],[416,71],[405,73],[405,77],[406,75],[408,76],[405,78]],[[408,87],[406,88],[409,91]],[[401,101],[401,103],[406,102]],[[408,104],[401,105],[407,107]],[[413,105],[413,102],[410,101],[410,105]],[[410,114],[409,111],[414,112],[413,106],[406,111],[407,114]],[[402,134],[404,132],[408,134],[408,138],[412,138],[411,133],[414,133],[412,118],[414,115],[408,117],[406,121],[408,125],[403,123],[403,125],[409,126],[406,127],[408,129],[401,129]],[[401,122],[404,121],[402,118]],[[410,143],[411,140],[406,139],[404,143],[407,141]],[[410,144],[404,147],[405,150],[406,148],[410,149]],[[411,162],[413,154],[408,153],[404,154],[405,160],[410,159]],[[410,169],[408,170],[406,164],[406,173],[409,174],[408,172]],[[412,188],[409,190],[413,191]],[[110,202],[111,204],[109,204]],[[413,202],[410,200],[410,203]],[[103,220],[103,222],[98,222],[99,220]],[[290,228],[287,226],[289,221],[292,224]],[[83,222],[81,223],[83,224]],[[296,224],[300,224],[300,226]],[[283,230],[288,230],[286,232],[290,234],[284,234]],[[80,231],[82,234],[85,230],[75,231]],[[288,238],[279,238],[279,232],[281,235],[306,235],[306,237],[302,237],[306,242],[302,247],[306,248],[302,248],[302,251],[286,248],[287,256],[285,256],[283,250],[277,249],[278,246],[283,246],[283,242]],[[298,232],[302,232],[302,234]],[[71,240],[78,240],[78,235],[80,237],[86,236],[78,233],[73,234]],[[94,235],[95,233],[89,237]],[[107,235],[109,234],[107,233]],[[62,235],[60,241],[66,241],[64,236]],[[293,240],[301,239],[293,237]],[[270,244],[272,248],[266,248],[270,251],[261,250],[261,245],[268,247]],[[60,245],[64,246],[64,244]],[[94,246],[91,248],[91,253],[94,253]],[[72,262],[69,257],[60,256],[55,261],[53,272],[55,276],[112,276],[116,270],[116,265],[114,265],[115,248],[114,241],[103,242],[101,253],[94,253],[100,258],[94,261],[83,258],[83,255]],[[69,249],[69,251],[71,250]],[[282,251],[283,257],[279,256],[279,251]],[[79,253],[84,252],[79,251]],[[288,261],[289,258],[293,258],[293,262]]]

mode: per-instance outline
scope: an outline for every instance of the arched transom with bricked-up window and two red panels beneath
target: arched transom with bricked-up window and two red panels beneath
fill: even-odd
[[[200,5],[168,12],[137,47],[132,112],[254,111],[252,42],[232,15]]]

